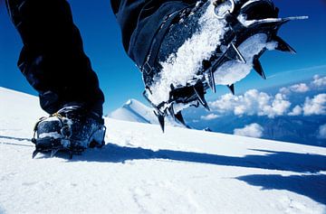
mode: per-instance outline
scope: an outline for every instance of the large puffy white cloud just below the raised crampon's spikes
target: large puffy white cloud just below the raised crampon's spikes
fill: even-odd
[[[211,102],[210,106],[219,113],[233,112],[235,116],[258,115],[273,118],[286,114],[291,102],[281,93],[273,97],[256,89],[251,89],[240,96],[226,94]]]

